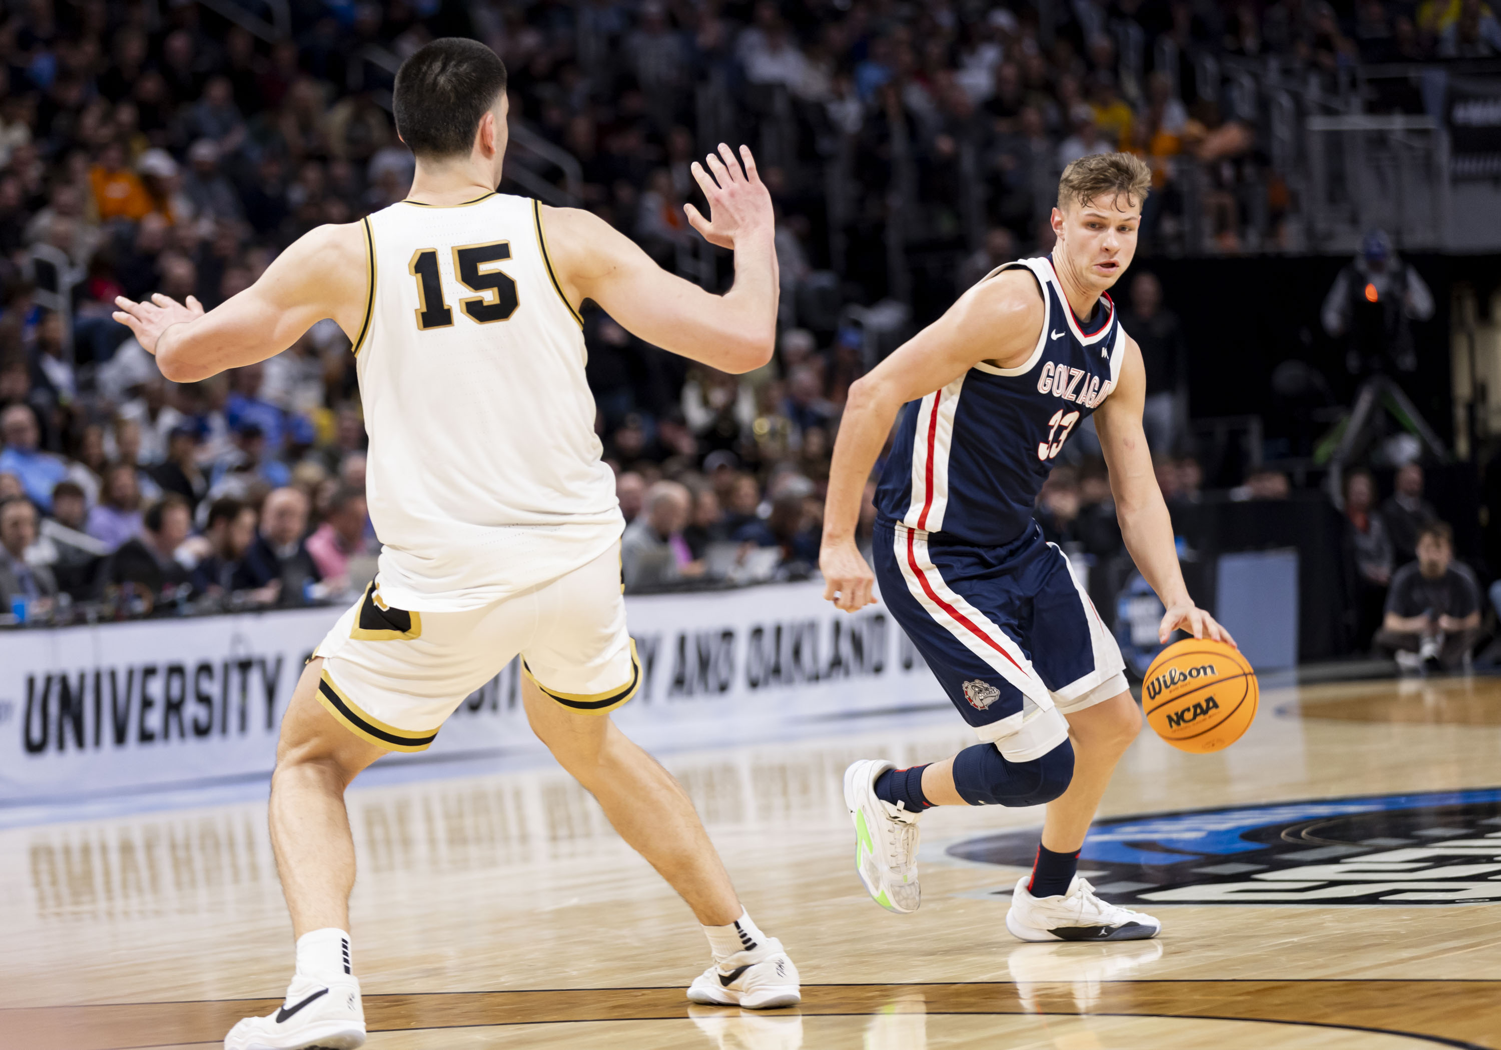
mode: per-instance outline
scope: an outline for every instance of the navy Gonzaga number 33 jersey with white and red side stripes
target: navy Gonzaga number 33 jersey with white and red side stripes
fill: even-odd
[[[976,546],[1010,543],[1031,525],[1063,442],[1115,388],[1126,333],[1111,297],[1081,326],[1051,256],[1001,267],[1013,268],[1031,270],[1042,288],[1037,346],[1019,368],[982,362],[907,404],[875,495],[887,522]]]

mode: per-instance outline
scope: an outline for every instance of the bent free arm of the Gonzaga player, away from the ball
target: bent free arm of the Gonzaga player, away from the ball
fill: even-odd
[[[850,387],[829,472],[824,538],[818,567],[824,597],[845,612],[875,602],[875,574],[860,555],[854,528],[860,498],[896,414],[907,402],[940,390],[980,362],[1024,363],[1037,345],[1043,303],[1027,272],[982,280],[949,310],[902,344]]]

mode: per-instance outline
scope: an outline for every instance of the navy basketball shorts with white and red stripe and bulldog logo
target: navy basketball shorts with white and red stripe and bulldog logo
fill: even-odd
[[[1063,742],[1060,712],[1127,690],[1115,638],[1036,522],[979,548],[878,520],[875,579],[959,714],[1009,759]]]

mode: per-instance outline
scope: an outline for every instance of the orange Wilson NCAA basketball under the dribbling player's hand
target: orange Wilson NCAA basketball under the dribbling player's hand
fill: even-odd
[[[1147,724],[1180,752],[1220,752],[1256,717],[1256,672],[1232,645],[1190,638],[1151,662],[1141,686]]]

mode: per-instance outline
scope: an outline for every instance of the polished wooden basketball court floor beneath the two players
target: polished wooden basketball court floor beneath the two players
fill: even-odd
[[[1106,896],[1159,894],[1127,902],[1163,920],[1151,942],[1006,933],[1022,868],[1001,861],[1025,837],[1003,832],[1031,810],[929,814],[922,910],[871,903],[839,774],[973,742],[949,711],[666,754],[802,969],[802,1006],[763,1014],[686,1002],[708,964],[692,915],[557,770],[357,789],[366,1046],[1501,1048],[1501,792],[1483,790],[1501,786],[1501,681],[1265,686],[1228,752],[1147,734],[1117,774],[1112,860],[1084,868]],[[212,1047],[281,1002],[264,802],[120,808],[0,831],[3,1050]]]

